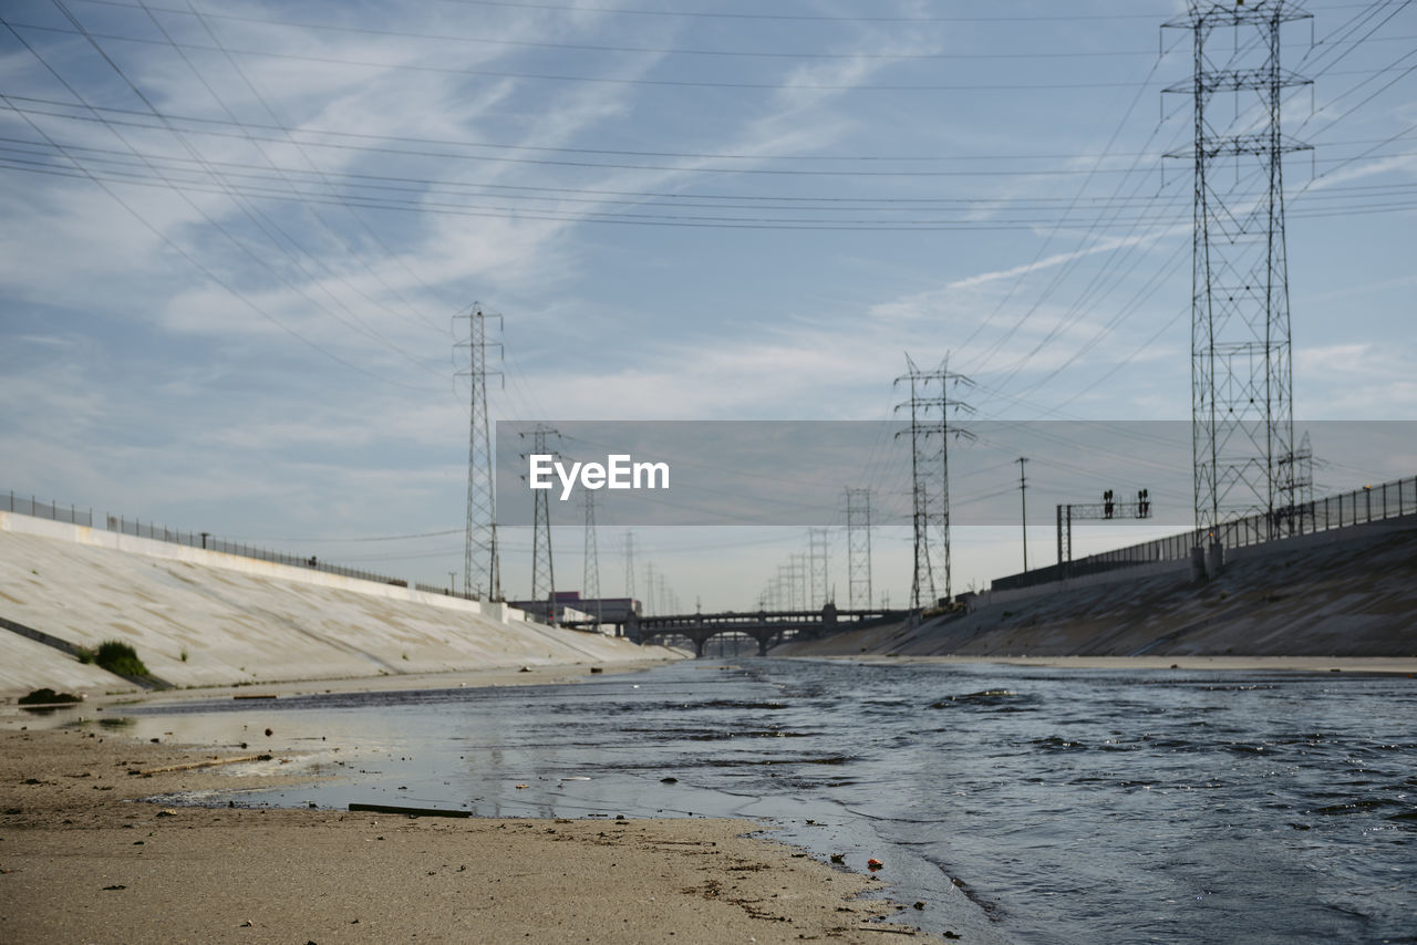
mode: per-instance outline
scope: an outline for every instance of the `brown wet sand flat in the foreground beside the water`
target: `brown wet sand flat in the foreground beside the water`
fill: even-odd
[[[859,898],[884,885],[866,863],[745,820],[164,808],[140,799],[290,781],[244,774],[279,758],[154,772],[238,752],[103,730],[11,727],[0,745],[0,941],[17,945],[944,941],[879,921],[910,910]]]

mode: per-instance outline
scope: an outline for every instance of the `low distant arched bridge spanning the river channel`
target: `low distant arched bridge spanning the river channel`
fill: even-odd
[[[635,643],[649,643],[662,636],[684,636],[694,645],[694,656],[704,655],[704,645],[721,633],[743,633],[758,642],[758,656],[767,656],[768,649],[791,635],[798,638],[819,638],[842,630],[857,630],[881,623],[897,623],[910,616],[908,611],[887,611],[883,608],[863,611],[839,611],[828,604],[820,611],[755,611],[740,613],[672,613],[640,616],[626,613],[614,621],[565,621],[563,626],[594,628],[597,623],[614,623],[616,636],[626,636]]]

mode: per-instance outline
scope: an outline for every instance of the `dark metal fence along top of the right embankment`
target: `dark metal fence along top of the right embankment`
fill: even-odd
[[[1009,591],[1049,584],[1064,578],[1080,578],[1088,574],[1129,568],[1155,561],[1186,561],[1190,550],[1207,541],[1219,541],[1227,548],[1244,548],[1268,541],[1280,541],[1297,536],[1314,534],[1360,526],[1397,516],[1417,513],[1417,476],[1396,479],[1380,486],[1363,486],[1338,496],[1315,499],[1299,506],[1280,509],[1272,514],[1247,516],[1224,521],[1216,527],[1213,537],[1206,531],[1185,531],[1182,534],[1144,541],[1115,551],[1091,554],[1076,561],[1063,561],[1046,568],[1010,574],[996,578],[990,588]]]

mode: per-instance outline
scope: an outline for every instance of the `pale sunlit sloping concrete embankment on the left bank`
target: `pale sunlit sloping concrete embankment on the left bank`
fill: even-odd
[[[3,694],[130,687],[65,652],[108,639],[174,686],[679,656],[503,605],[3,511],[0,618]]]

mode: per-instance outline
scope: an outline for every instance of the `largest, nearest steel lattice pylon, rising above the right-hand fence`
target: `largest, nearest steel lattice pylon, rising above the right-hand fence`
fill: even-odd
[[[1284,89],[1308,85],[1280,67],[1284,24],[1311,18],[1292,0],[1189,0],[1166,27],[1193,34],[1192,453],[1196,528],[1267,514],[1294,527],[1294,387],[1284,244]],[[1229,28],[1221,28],[1229,27]],[[1233,37],[1230,43],[1224,40]],[[1223,109],[1217,92],[1234,92]],[[1234,159],[1234,173],[1223,169]]]

